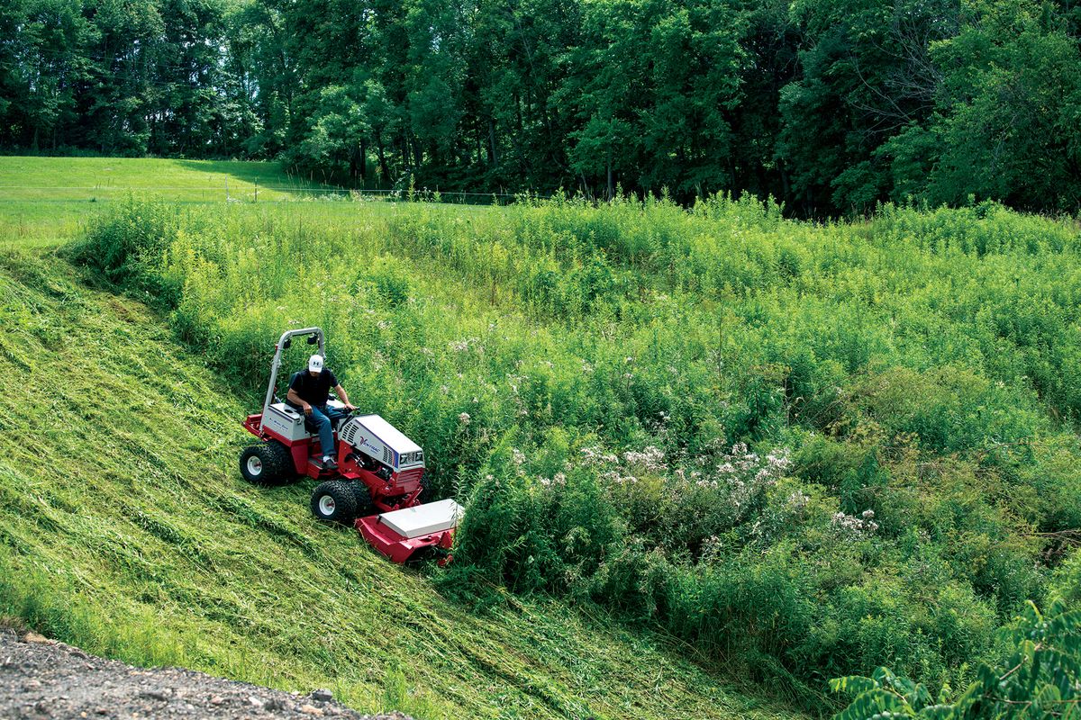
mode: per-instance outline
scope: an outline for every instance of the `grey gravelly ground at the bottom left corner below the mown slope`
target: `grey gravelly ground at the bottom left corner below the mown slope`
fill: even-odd
[[[138,668],[0,628],[0,718],[410,720],[360,715],[326,690],[298,695],[181,668]]]

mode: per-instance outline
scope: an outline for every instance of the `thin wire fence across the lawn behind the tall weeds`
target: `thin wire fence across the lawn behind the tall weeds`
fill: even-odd
[[[356,188],[226,182],[221,186],[32,186],[0,185],[0,202],[98,202],[129,195],[160,195],[186,203],[283,202],[436,202],[461,205],[509,205],[523,196],[506,192],[440,191],[427,188],[369,190]],[[530,195],[535,196],[535,195]]]

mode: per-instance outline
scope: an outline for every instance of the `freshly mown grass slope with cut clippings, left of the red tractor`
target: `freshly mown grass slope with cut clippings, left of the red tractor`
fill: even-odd
[[[61,260],[2,256],[0,373],[0,614],[132,662],[328,685],[361,709],[778,715],[558,603],[472,614],[311,520],[310,484],[242,484],[228,379]]]

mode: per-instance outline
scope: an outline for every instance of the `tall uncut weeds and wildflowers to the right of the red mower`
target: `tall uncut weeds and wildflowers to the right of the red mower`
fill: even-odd
[[[282,327],[329,330],[469,500],[449,589],[598,602],[811,704],[879,665],[964,687],[1081,525],[1069,222],[132,202],[75,256],[252,388]]]

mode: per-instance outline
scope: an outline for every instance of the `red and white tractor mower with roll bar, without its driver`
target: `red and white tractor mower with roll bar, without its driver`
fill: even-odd
[[[275,396],[282,351],[297,336],[307,336],[309,344],[318,343],[325,356],[320,328],[282,334],[270,363],[263,412],[243,422],[262,443],[240,453],[241,475],[257,485],[280,485],[297,475],[322,480],[311,493],[311,513],[317,518],[356,527],[395,562],[430,549],[442,553],[440,563],[445,563],[462,507],[453,500],[424,504],[425,458],[416,443],[377,415],[345,415],[334,430],[338,466],[328,470],[316,429],[302,411]],[[326,405],[345,412],[338,400]]]

